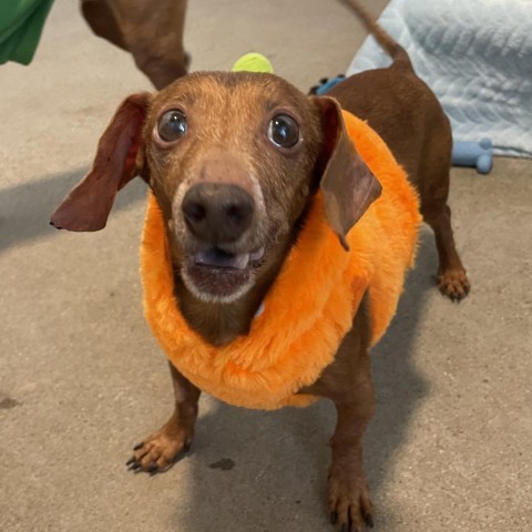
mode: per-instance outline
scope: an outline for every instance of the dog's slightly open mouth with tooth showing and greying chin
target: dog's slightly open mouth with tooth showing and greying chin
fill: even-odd
[[[264,247],[244,253],[211,247],[188,255],[184,277],[201,299],[231,301],[253,286],[255,272],[264,259]]]

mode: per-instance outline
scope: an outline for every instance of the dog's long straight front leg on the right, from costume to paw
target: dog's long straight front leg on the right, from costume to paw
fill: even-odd
[[[329,511],[331,523],[338,523],[341,532],[362,532],[366,525],[374,525],[362,468],[362,436],[375,411],[375,396],[366,301],[361,307],[335,361],[316,383],[301,390],[331,399],[336,406],[338,417],[330,440]]]

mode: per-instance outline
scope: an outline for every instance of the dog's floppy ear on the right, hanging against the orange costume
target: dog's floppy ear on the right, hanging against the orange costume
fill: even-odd
[[[368,209],[382,191],[350,140],[341,110],[331,98],[316,98],[321,112],[324,155],[320,188],[325,214],[341,245],[349,249],[347,233]]]

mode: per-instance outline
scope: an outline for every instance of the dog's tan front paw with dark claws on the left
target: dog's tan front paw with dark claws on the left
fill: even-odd
[[[133,448],[133,456],[125,462],[130,471],[150,474],[168,470],[191,448],[192,434],[168,421],[160,430]]]

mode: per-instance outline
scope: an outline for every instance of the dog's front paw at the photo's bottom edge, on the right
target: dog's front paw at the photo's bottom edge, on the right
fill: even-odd
[[[374,528],[372,504],[364,471],[332,466],[329,474],[329,510],[331,524],[340,532],[362,532]]]

